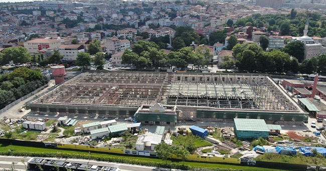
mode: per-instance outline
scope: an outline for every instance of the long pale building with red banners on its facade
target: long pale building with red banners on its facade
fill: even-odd
[[[57,39],[34,39],[24,42],[24,47],[31,55],[38,53],[42,49],[58,49],[61,41]]]

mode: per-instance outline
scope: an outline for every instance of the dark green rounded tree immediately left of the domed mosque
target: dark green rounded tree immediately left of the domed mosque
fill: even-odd
[[[302,42],[294,41],[287,44],[282,51],[296,58],[299,62],[303,61],[304,45]]]

